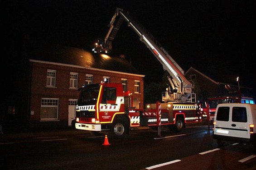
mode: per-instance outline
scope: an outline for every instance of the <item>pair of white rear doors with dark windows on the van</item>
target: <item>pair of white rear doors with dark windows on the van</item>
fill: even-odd
[[[245,106],[225,106],[217,108],[214,134],[250,138],[249,119]]]

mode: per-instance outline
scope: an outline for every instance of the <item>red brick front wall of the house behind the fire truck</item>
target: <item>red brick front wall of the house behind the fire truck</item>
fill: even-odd
[[[134,98],[140,100],[140,106],[144,106],[143,77],[101,70],[83,69],[66,65],[38,62],[33,62],[31,65],[30,110],[34,111],[34,115],[30,115],[30,124],[34,127],[42,126],[42,124],[49,126],[49,123],[51,122],[49,121],[48,123],[45,123],[45,121],[40,121],[42,98],[58,99],[58,121],[53,121],[52,124],[54,124],[54,126],[68,125],[68,99],[77,99],[79,96],[79,91],[77,89],[69,88],[70,72],[78,73],[78,88],[82,87],[85,83],[86,74],[92,74],[93,83],[100,83],[103,80],[103,76],[110,77],[111,83],[121,83],[121,78],[126,78],[127,88],[134,94],[134,80],[140,80],[140,94],[134,94]],[[46,87],[48,69],[56,70],[56,87]]]

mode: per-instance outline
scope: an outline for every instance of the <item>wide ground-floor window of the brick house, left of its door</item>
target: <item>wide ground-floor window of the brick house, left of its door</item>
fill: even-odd
[[[58,99],[42,98],[41,99],[41,120],[58,119]]]

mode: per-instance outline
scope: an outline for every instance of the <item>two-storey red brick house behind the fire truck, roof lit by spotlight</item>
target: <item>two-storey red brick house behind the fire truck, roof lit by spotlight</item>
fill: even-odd
[[[19,76],[22,90],[13,95],[19,100],[9,105],[8,115],[29,128],[71,126],[78,89],[83,84],[100,83],[104,78],[110,83],[122,83],[124,91],[133,93],[135,106],[144,106],[145,75],[139,74],[123,55],[27,41],[24,56],[27,60],[22,63]]]

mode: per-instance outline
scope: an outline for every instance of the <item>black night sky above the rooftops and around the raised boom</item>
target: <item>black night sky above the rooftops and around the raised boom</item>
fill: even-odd
[[[9,0],[9,55],[25,35],[91,51],[116,7],[129,11],[184,71],[192,66],[213,79],[231,75],[233,84],[239,76],[240,86],[255,89],[255,0]],[[145,81],[162,77],[162,65],[126,22],[112,46],[110,55],[125,55]]]

